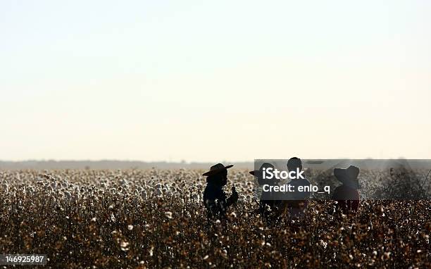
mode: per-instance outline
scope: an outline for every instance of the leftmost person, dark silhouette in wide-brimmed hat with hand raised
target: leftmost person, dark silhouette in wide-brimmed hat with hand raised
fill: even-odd
[[[235,187],[232,187],[232,194],[227,199],[223,191],[223,186],[227,184],[227,169],[232,166],[217,163],[203,174],[206,176],[207,183],[204,191],[204,206],[207,209],[208,218],[223,218],[227,208],[238,201],[238,193]]]

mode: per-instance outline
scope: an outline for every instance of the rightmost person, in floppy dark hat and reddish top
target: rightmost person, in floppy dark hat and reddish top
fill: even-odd
[[[350,165],[349,168],[335,168],[334,175],[342,185],[337,187],[332,194],[332,199],[337,201],[337,208],[342,213],[356,213],[359,208],[359,192],[361,189],[358,181],[359,168]]]

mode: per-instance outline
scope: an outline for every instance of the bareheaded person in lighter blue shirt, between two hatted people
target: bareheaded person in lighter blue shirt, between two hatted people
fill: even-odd
[[[302,161],[300,158],[289,158],[287,161],[287,170],[290,171],[302,171]],[[282,211],[289,213],[289,218],[301,218],[308,206],[308,199],[310,198],[310,192],[299,191],[300,186],[310,186],[310,182],[304,177],[297,177],[287,184],[290,184],[294,192],[285,192],[284,200],[282,202]]]

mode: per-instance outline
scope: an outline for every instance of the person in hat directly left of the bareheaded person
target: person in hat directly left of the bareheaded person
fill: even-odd
[[[280,180],[275,179],[273,177],[272,179],[264,179],[263,178],[263,168],[273,168],[274,165],[271,163],[262,163],[261,168],[258,170],[250,171],[249,173],[251,175],[254,175],[254,177],[257,178],[259,186],[263,187],[263,185],[268,184],[270,186],[277,185]],[[261,192],[261,199],[259,202],[259,213],[261,216],[267,221],[270,222],[271,220],[275,220],[279,215],[281,201],[279,197],[277,196],[277,193],[275,192]]]

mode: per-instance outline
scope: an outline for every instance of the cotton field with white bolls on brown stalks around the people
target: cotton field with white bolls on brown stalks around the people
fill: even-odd
[[[202,172],[1,171],[0,253],[51,268],[431,267],[429,199],[366,199],[353,216],[313,200],[302,220],[263,223],[254,178],[230,170],[239,201],[207,220]]]

